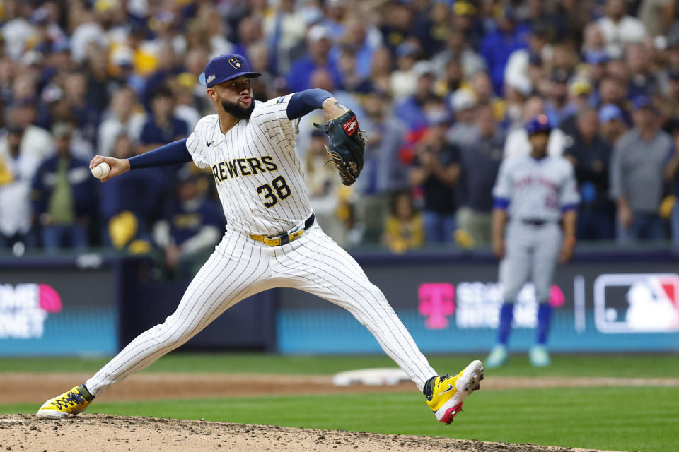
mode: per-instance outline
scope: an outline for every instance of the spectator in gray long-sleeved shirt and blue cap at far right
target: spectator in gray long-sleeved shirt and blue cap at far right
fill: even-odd
[[[649,97],[635,97],[634,129],[615,144],[610,167],[610,196],[617,204],[617,239],[621,243],[664,237],[658,215],[663,196],[663,168],[673,152],[672,138],[658,129]]]

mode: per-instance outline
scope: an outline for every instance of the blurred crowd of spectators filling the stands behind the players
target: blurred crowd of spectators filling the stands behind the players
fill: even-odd
[[[487,246],[503,159],[574,165],[582,240],[679,243],[675,0],[51,0],[0,2],[0,247],[163,251],[219,240],[211,174],[143,169],[105,184],[95,154],[130,157],[212,114],[197,78],[243,54],[255,98],[323,88],[368,131],[359,182],[301,122],[315,213],[340,244]]]

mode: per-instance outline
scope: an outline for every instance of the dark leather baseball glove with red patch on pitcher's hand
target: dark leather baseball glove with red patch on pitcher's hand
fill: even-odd
[[[352,185],[363,169],[363,158],[366,149],[364,131],[359,130],[359,121],[352,110],[347,110],[340,117],[327,121],[324,126],[314,124],[325,131],[328,143],[325,150],[332,157],[340,179],[344,185]]]

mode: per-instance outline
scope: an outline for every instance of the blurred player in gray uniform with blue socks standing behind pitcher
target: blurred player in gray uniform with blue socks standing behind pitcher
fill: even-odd
[[[487,367],[507,359],[507,341],[516,296],[528,281],[535,285],[538,330],[530,362],[550,364],[545,343],[550,328],[550,287],[557,261],[568,261],[575,245],[576,208],[580,196],[573,167],[562,157],[547,156],[550,124],[545,115],[526,124],[530,155],[504,160],[493,189],[493,250],[500,261],[504,304],[497,345]],[[509,223],[508,223],[509,221]]]

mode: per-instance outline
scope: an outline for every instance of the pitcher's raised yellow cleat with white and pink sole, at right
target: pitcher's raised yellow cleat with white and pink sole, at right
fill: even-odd
[[[424,385],[426,404],[439,422],[450,424],[462,411],[462,403],[473,391],[481,388],[483,364],[478,359],[455,376],[434,376]]]

